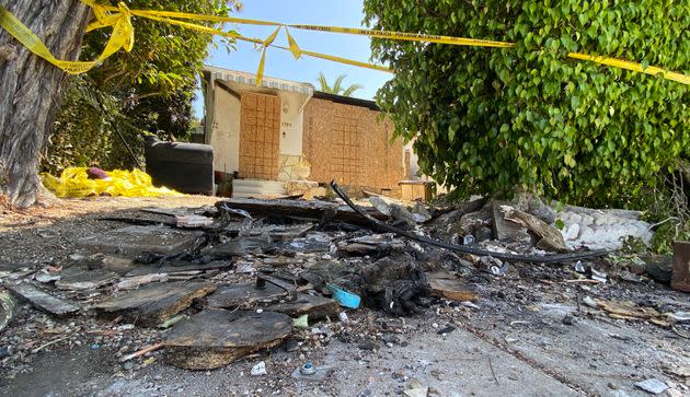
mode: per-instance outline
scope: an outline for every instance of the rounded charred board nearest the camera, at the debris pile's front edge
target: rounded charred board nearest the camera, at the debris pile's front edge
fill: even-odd
[[[179,323],[165,340],[165,359],[187,370],[212,370],[279,345],[292,319],[275,312],[206,310]]]

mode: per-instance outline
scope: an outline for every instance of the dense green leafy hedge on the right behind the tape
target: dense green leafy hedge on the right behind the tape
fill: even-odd
[[[690,157],[687,85],[568,59],[690,73],[690,2],[365,0],[372,28],[515,43],[480,48],[373,39],[395,77],[377,94],[422,170],[464,196],[529,190],[572,203],[641,205]]]

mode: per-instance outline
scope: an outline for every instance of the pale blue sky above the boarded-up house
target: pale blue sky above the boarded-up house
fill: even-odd
[[[243,9],[232,16],[269,20],[283,23],[314,24],[357,27],[361,26],[364,19],[360,0],[243,0]],[[266,38],[275,27],[252,25],[226,25],[234,28],[243,36]],[[365,36],[341,35],[334,33],[321,33],[290,30],[290,34],[300,48],[350,58],[359,61],[369,61],[371,56],[369,38]],[[275,44],[287,46],[285,33],[278,35]],[[241,70],[255,73],[261,52],[254,49],[250,43],[237,43],[237,50],[228,51],[219,47],[210,49],[206,65],[220,68]],[[321,60],[302,56],[295,60],[289,51],[269,48],[266,52],[264,74],[285,80],[312,83],[317,87],[317,77],[323,72],[330,82],[340,74],[347,74],[344,84],[360,84],[364,87],[355,92],[353,96],[370,100],[376,91],[388,81],[392,74],[388,72],[357,68],[348,65]],[[200,93],[194,103],[197,115],[202,115]]]

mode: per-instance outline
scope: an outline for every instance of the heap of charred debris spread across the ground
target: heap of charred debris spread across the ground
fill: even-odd
[[[607,266],[611,256],[598,258],[607,249],[563,254],[573,245],[565,230],[553,226],[550,208],[540,212],[515,201],[479,199],[449,209],[376,194],[368,194],[373,207],[364,208],[337,184],[331,187],[343,201],[227,199],[196,209],[146,208],[95,218],[108,227],[113,222],[127,226],[82,233],[74,238],[78,252],[67,258],[3,280],[22,305],[15,311],[23,313],[12,318],[2,306],[0,328],[11,318],[3,332],[16,335],[14,324],[26,322],[25,308],[32,305],[47,314],[28,312],[60,324],[56,334],[67,332],[65,323],[103,332],[93,349],[107,345],[111,335],[123,341],[130,340],[128,335],[140,338],[115,348],[126,371],[158,358],[210,370],[277,346],[299,350],[308,360],[332,340],[352,342],[359,351],[402,347],[411,332],[405,322],[416,318],[444,318],[430,322],[429,334],[457,336],[467,329],[456,315],[483,316],[502,307],[496,302],[518,302],[520,317],[508,325],[526,324],[521,316],[528,303],[530,311],[540,310],[538,304],[555,306],[533,300],[539,291],[528,283],[538,281],[534,290],[566,285],[554,290],[576,294],[577,311],[559,312],[559,326],[577,328],[585,310],[685,337],[687,306],[596,293],[624,282],[642,285],[645,276],[668,283],[671,270],[682,284],[685,250],[677,269],[670,259],[649,260],[622,272]],[[77,338],[35,335],[42,336],[31,354]],[[320,373],[325,366],[314,367]],[[271,366],[255,372],[266,371],[273,372]]]

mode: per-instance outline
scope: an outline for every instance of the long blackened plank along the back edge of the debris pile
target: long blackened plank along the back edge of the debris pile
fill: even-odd
[[[286,199],[273,199],[273,200],[260,200],[249,198],[231,198],[219,201],[217,206],[227,203],[228,207],[244,210],[252,215],[276,215],[297,218],[297,219],[310,219],[310,220],[329,220],[341,221],[358,225],[367,225],[368,222],[359,217],[347,206],[341,206],[336,202],[320,201],[320,200],[286,200]],[[365,209],[369,215],[377,219],[386,219],[384,214],[375,209]]]

